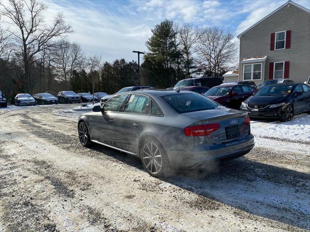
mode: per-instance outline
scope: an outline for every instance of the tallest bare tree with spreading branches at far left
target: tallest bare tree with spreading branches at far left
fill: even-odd
[[[37,0],[8,0],[7,4],[0,2],[0,14],[15,25],[14,35],[19,44],[20,55],[23,58],[25,79],[30,90],[30,64],[36,61],[35,55],[42,49],[52,48],[55,43],[53,39],[64,37],[73,32],[71,25],[66,24],[61,13],[55,16],[51,26],[44,23],[42,13],[47,6]]]

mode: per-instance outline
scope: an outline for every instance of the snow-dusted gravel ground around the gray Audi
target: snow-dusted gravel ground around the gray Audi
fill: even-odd
[[[251,121],[245,157],[158,180],[83,148],[74,106],[0,109],[0,232],[310,231],[310,115]]]

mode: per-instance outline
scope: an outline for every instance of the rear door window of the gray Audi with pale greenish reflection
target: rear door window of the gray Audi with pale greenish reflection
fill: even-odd
[[[131,94],[124,109],[125,113],[149,114],[149,98],[140,94]]]

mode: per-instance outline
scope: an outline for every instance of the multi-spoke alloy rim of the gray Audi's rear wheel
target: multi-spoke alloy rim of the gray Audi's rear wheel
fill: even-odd
[[[162,168],[162,156],[155,143],[146,143],[142,148],[142,160],[145,168],[151,174],[158,174]]]

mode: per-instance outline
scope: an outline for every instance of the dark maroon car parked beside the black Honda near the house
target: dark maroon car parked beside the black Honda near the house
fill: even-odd
[[[224,106],[239,109],[241,102],[248,99],[257,90],[247,85],[220,85],[210,88],[204,96]]]

